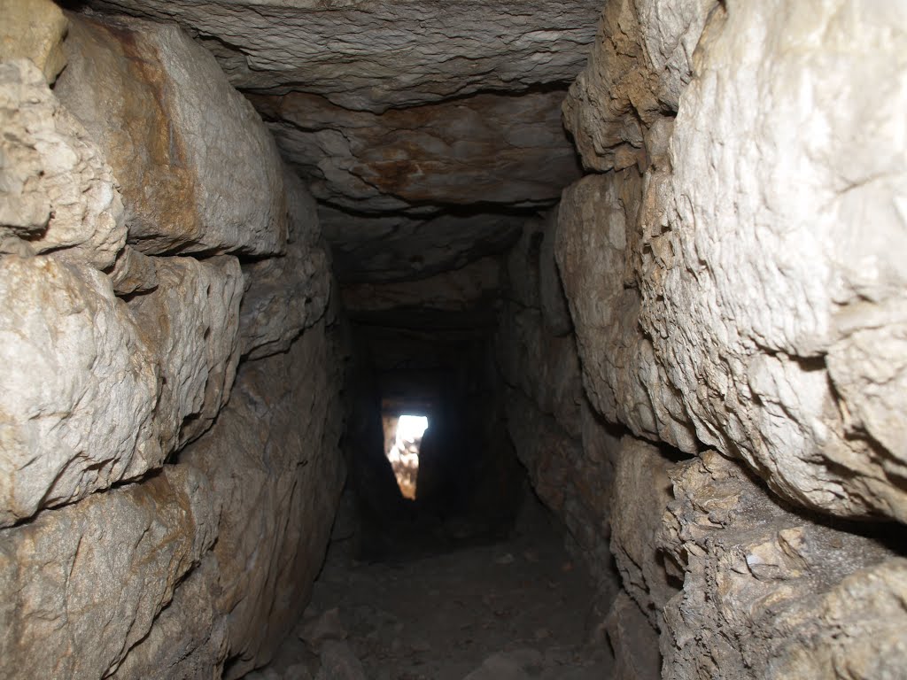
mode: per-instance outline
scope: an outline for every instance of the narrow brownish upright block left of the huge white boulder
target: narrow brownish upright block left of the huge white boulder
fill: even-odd
[[[596,410],[639,437],[695,452],[682,394],[639,325],[641,180],[636,170],[590,175],[564,190],[555,254]]]

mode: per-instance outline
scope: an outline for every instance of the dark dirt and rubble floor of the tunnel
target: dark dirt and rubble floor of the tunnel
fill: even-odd
[[[592,594],[545,510],[512,537],[418,559],[365,563],[343,540],[275,661],[248,680],[599,680]]]

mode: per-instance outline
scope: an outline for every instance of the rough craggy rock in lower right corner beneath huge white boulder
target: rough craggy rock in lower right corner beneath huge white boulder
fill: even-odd
[[[903,675],[907,560],[890,531],[888,547],[788,510],[717,452],[671,478],[661,540],[686,578],[665,609],[664,677]]]

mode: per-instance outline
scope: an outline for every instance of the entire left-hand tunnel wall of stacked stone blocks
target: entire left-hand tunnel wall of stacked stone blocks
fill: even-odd
[[[345,476],[314,201],[179,29],[23,5],[0,63],[0,675],[238,677],[307,604]]]

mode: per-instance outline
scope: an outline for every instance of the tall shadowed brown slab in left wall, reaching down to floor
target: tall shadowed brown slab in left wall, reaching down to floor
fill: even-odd
[[[287,353],[243,364],[216,426],[180,453],[222,501],[214,556],[227,677],[268,662],[321,567],[345,476],[340,366],[322,320]]]

